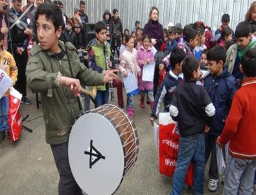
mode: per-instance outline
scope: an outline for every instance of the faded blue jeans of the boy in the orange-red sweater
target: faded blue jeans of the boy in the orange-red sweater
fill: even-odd
[[[252,194],[256,159],[239,159],[231,155],[229,158],[223,194]]]

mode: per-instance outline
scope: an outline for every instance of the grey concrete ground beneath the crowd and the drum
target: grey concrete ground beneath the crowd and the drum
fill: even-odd
[[[30,90],[28,92],[32,105],[21,105],[21,110],[24,116],[29,114],[27,120],[31,120],[42,116],[43,113],[41,105],[40,109],[36,108],[35,95],[31,94]],[[116,92],[115,97],[117,97]],[[139,134],[139,158],[134,169],[125,176],[115,194],[169,194],[172,188],[172,178],[163,176],[158,171],[158,152],[152,141],[152,126],[149,118],[149,105],[144,109],[140,108],[139,96],[136,96],[134,121]],[[45,143],[43,118],[25,121],[24,125],[32,128],[33,132],[22,130],[17,143],[5,139],[0,144],[0,194],[58,194],[58,171],[52,158],[51,148]],[[223,189],[221,184],[215,193],[207,190],[207,169],[205,169],[205,194],[221,194]],[[183,194],[189,194],[186,189],[183,191]]]

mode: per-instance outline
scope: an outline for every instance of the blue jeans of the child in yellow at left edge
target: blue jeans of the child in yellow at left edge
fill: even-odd
[[[0,99],[0,131],[9,130],[8,125],[9,114],[9,97],[3,96]]]

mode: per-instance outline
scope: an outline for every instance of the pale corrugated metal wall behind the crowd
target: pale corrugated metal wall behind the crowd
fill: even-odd
[[[79,0],[64,0],[64,11],[71,16]],[[148,21],[148,12],[151,6],[159,9],[159,21],[163,26],[170,22],[181,23],[182,26],[195,21],[204,21],[213,30],[220,26],[222,14],[231,17],[230,26],[235,26],[244,20],[249,6],[253,0],[85,0],[86,14],[89,23],[102,20],[104,10],[117,8],[122,19],[123,28],[133,30],[135,21],[141,21],[144,26]]]

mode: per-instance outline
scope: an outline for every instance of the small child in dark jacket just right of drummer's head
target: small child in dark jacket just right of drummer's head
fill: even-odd
[[[73,32],[74,23],[72,19],[67,20],[67,25],[65,26],[65,29],[62,31],[61,40],[64,41],[64,43],[70,42],[77,48],[76,43],[76,34]]]

